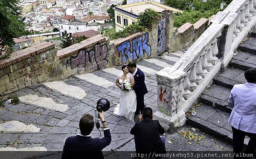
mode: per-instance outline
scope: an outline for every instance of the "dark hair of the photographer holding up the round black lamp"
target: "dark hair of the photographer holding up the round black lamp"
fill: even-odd
[[[89,135],[94,127],[93,116],[90,114],[85,114],[79,121],[79,129],[81,131],[81,135]]]

